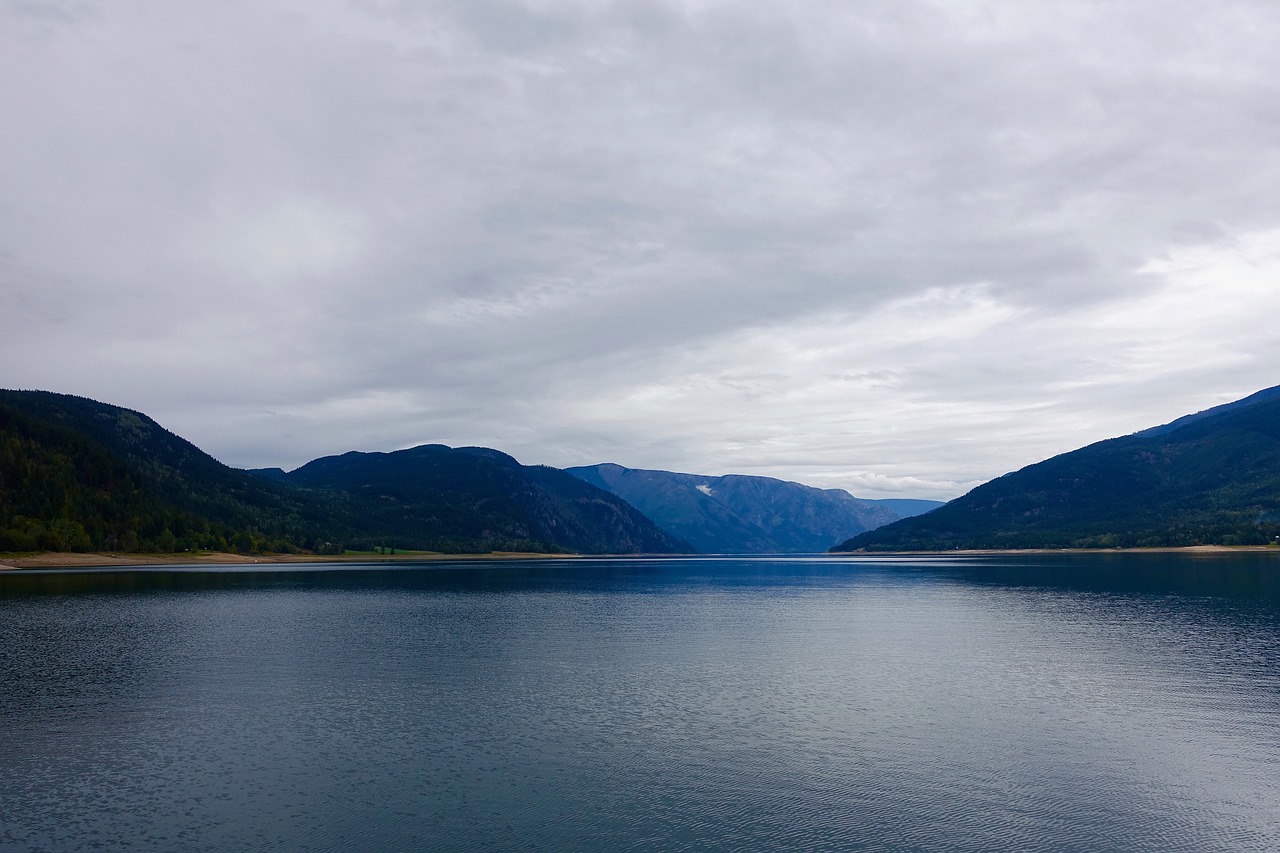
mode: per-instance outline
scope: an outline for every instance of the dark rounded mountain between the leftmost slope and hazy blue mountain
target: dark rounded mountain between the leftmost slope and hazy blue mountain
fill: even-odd
[[[278,470],[278,469],[275,469]],[[635,507],[554,467],[485,447],[422,444],[326,456],[276,482],[342,496],[393,547],[472,551],[675,553],[690,546]]]

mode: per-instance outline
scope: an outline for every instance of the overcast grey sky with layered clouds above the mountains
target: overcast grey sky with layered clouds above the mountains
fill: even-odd
[[[1280,384],[1274,0],[0,0],[0,386],[863,497]]]

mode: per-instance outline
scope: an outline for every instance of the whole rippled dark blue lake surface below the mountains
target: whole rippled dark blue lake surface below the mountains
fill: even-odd
[[[1276,850],[1280,561],[0,574],[0,852]]]

